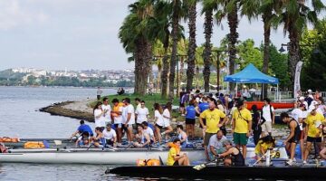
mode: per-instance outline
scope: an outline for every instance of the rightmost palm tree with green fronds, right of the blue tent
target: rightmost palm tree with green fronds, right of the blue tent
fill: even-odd
[[[300,37],[308,23],[316,25],[318,14],[325,9],[321,0],[312,0],[307,5],[305,0],[283,0],[282,14],[274,21],[274,24],[283,24],[283,33],[288,33],[289,43],[289,71],[292,84],[294,83],[295,67],[300,58]],[[310,8],[312,7],[312,9]]]

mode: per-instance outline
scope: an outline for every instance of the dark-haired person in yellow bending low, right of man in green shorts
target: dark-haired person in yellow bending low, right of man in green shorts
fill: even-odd
[[[254,148],[254,153],[257,157],[257,160],[260,160],[261,157],[264,157],[264,154],[268,149],[275,147],[275,139],[269,135],[268,132],[262,133],[263,137],[258,139],[258,143]]]

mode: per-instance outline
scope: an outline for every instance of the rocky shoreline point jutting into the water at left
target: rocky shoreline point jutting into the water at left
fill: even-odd
[[[50,106],[41,108],[39,111],[47,112],[54,116],[63,116],[72,119],[83,119],[94,122],[92,110],[88,107],[90,100],[62,101],[53,103]]]

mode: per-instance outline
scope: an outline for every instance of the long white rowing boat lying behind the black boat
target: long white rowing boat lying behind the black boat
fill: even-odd
[[[276,149],[276,148],[275,148]],[[285,148],[277,150],[276,158],[287,159]],[[206,161],[204,148],[183,148],[192,163]],[[135,165],[137,159],[161,157],[168,159],[168,148],[32,148],[11,149],[0,153],[0,163],[46,163],[46,164],[104,164]],[[247,158],[254,157],[254,148],[248,148]]]

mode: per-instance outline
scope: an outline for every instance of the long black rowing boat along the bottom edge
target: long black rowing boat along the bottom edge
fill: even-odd
[[[106,171],[106,173],[116,174],[119,176],[137,176],[137,177],[173,177],[184,179],[259,179],[270,178],[273,180],[282,178],[291,179],[309,179],[323,180],[325,178],[326,167],[223,167],[211,166],[201,170],[193,167],[115,167]]]

